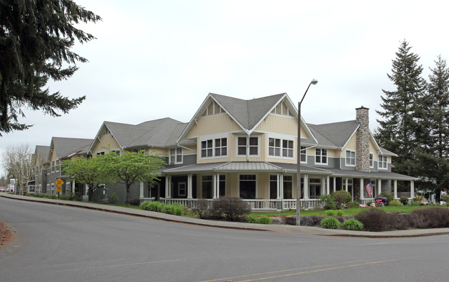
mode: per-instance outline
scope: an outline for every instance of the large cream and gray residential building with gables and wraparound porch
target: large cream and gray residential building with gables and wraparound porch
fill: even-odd
[[[407,196],[414,196],[416,178],[393,173],[396,155],[379,147],[369,131],[369,109],[361,106],[355,116],[330,124],[301,120],[302,207],[315,207],[321,195],[340,189],[361,203],[384,191],[398,198],[398,181],[409,187]],[[286,93],[253,100],[210,93],[188,123],[171,118],[136,125],[104,122],[86,147],[77,144],[61,156],[51,153],[49,161],[73,153],[157,151],[167,161],[161,181],[155,187],[134,185],[131,199],[194,206],[199,198],[227,195],[243,198],[253,209],[295,209],[297,120]],[[99,193],[116,191],[125,199],[124,187],[108,189]]]

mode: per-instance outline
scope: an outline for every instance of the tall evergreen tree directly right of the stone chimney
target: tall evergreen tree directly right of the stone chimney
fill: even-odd
[[[416,107],[423,96],[425,80],[419,56],[410,52],[412,47],[403,41],[393,60],[392,74],[388,78],[396,86],[395,91],[385,91],[381,96],[383,111],[376,111],[383,120],[377,120],[376,139],[379,144],[398,155],[392,165],[397,173],[414,174],[418,170],[416,154]]]

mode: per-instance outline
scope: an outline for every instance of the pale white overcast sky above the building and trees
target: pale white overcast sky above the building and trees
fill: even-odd
[[[208,93],[249,100],[288,93],[313,124],[354,120],[369,108],[374,131],[392,59],[405,39],[424,77],[448,59],[445,1],[75,0],[102,17],[80,28],[97,39],[74,50],[89,59],[50,90],[86,95],[60,118],[26,111],[34,126],[3,134],[8,146],[49,146],[52,136],[94,138],[103,121],[189,122]],[[1,156],[0,156],[1,158]],[[0,171],[1,172],[1,171]]]

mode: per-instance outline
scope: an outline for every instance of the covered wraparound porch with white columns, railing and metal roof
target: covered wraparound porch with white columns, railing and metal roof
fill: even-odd
[[[304,209],[320,207],[321,195],[345,190],[353,200],[365,204],[382,192],[397,196],[397,182],[410,182],[410,198],[414,198],[414,180],[397,173],[342,171],[302,165],[301,200]],[[160,185],[160,201],[168,205],[180,203],[196,207],[199,199],[212,200],[221,196],[238,196],[253,210],[285,211],[296,209],[296,164],[273,162],[221,162],[192,164],[165,169]],[[304,185],[305,183],[305,185]],[[371,183],[372,195],[366,185]],[[305,187],[305,188],[304,188]],[[391,191],[393,190],[393,191]],[[156,196],[140,191],[140,201],[152,201]],[[163,195],[163,196],[162,196]]]

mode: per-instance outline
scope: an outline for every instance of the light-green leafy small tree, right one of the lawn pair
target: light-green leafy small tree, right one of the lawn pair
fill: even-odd
[[[161,174],[159,170],[165,165],[161,156],[152,152],[109,151],[104,155],[104,171],[109,173],[113,182],[122,183],[127,189],[126,203],[129,202],[129,189],[136,181],[154,184]]]

